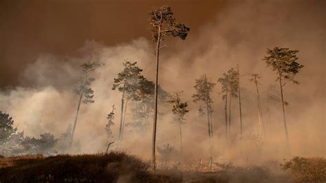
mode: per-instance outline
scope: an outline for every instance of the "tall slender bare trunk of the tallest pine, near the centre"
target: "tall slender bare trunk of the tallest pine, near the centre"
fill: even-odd
[[[160,58],[160,39],[161,39],[161,26],[162,26],[162,14],[160,19],[160,25],[157,30],[157,43],[156,43],[156,70],[155,70],[155,87],[154,87],[154,122],[153,122],[153,146],[152,146],[152,166],[153,170],[156,170],[155,159],[155,145],[156,145],[156,122],[157,122],[157,83],[158,83],[158,66]]]

